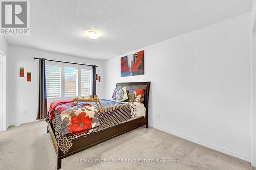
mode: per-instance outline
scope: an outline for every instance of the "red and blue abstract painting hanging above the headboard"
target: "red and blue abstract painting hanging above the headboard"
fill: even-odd
[[[144,75],[144,51],[121,57],[121,77]]]

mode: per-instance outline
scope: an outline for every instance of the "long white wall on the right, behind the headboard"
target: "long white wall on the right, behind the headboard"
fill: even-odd
[[[142,48],[142,76],[120,77],[125,54],[107,60],[105,98],[151,81],[150,126],[250,161],[250,29],[246,13]]]

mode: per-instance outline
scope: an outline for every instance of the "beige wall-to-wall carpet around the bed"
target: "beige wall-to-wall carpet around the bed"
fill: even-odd
[[[0,132],[0,169],[56,169],[46,122]],[[77,163],[77,159],[179,159],[180,163]],[[131,160],[131,161],[132,161]],[[144,127],[62,159],[61,169],[256,169],[249,162]]]

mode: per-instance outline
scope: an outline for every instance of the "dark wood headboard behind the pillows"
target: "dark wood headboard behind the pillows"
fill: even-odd
[[[123,88],[126,86],[126,89],[137,89],[142,88],[145,90],[144,96],[144,106],[146,108],[146,124],[148,126],[148,98],[150,96],[150,82],[128,82],[128,83],[116,83],[117,88]]]

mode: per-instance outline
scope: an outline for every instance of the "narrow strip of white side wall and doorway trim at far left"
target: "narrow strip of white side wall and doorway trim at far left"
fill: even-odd
[[[7,130],[8,128],[8,115],[6,114],[6,57],[8,55],[8,43],[5,38],[0,35],[0,51],[4,53],[3,60],[2,60],[2,71],[3,71],[3,128],[0,128],[0,131]],[[3,55],[3,54],[2,54]]]

